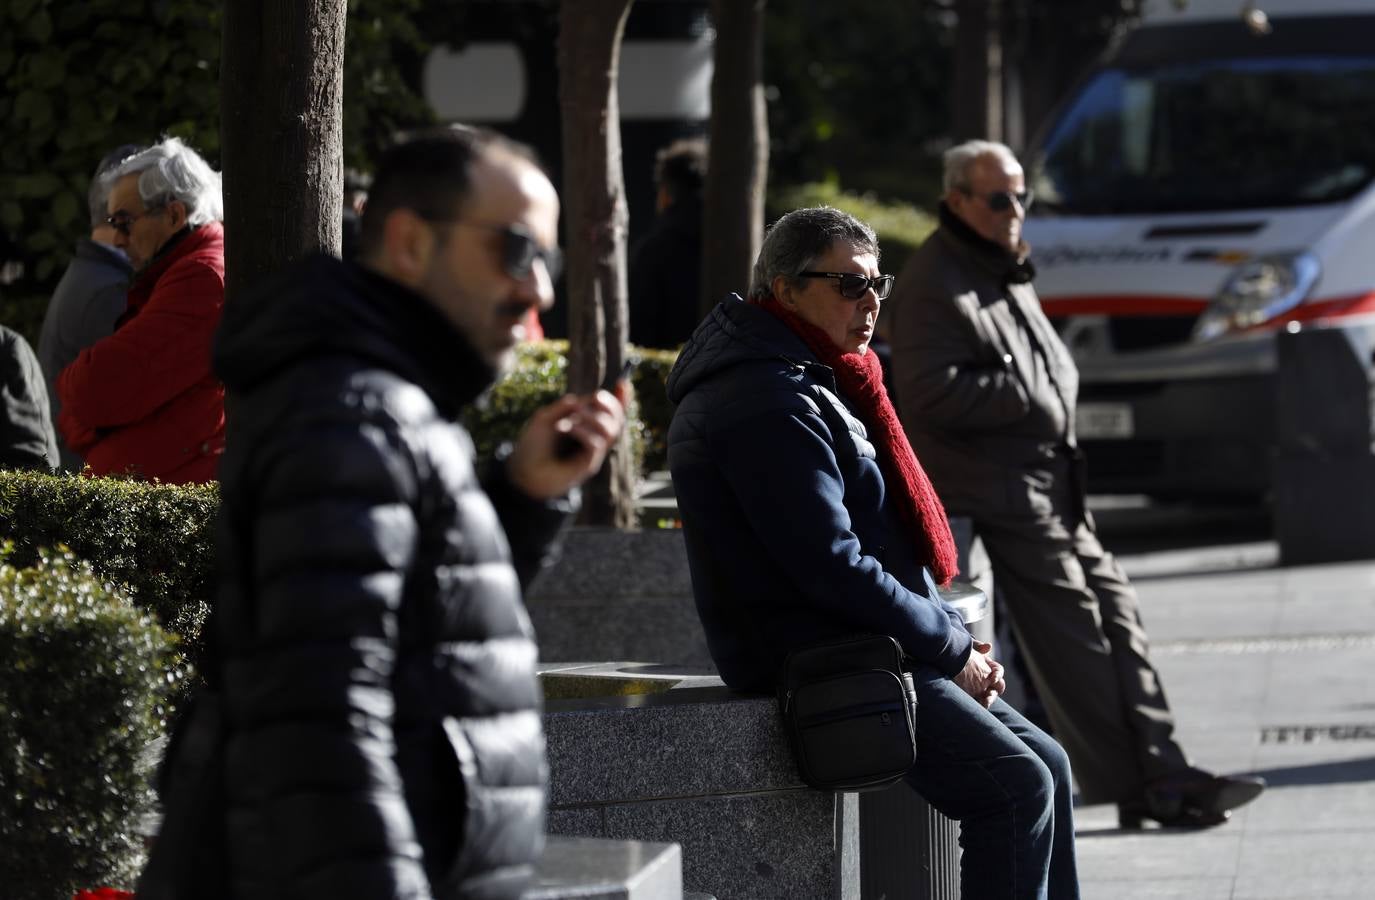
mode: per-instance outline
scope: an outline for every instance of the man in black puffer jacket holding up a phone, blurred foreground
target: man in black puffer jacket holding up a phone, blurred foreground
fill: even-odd
[[[528,150],[422,132],[378,166],[360,265],[318,257],[226,309],[212,660],[235,897],[487,900],[529,878],[544,754],[521,587],[623,411],[564,397],[488,466],[456,416],[551,304],[557,224]]]

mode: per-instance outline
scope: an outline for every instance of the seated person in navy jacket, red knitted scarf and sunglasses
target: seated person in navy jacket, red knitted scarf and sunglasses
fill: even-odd
[[[726,684],[771,691],[800,646],[895,638],[917,686],[908,780],[960,822],[962,896],[1078,897],[1068,760],[998,698],[990,646],[938,592],[954,541],[869,352],[891,287],[873,229],[795,210],[749,302],[718,305],[679,355],[668,464],[707,644]]]

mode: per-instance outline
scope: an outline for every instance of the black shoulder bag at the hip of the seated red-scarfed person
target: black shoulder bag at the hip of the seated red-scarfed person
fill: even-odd
[[[879,790],[917,763],[917,693],[902,646],[859,635],[793,650],[778,708],[802,780],[821,790]]]

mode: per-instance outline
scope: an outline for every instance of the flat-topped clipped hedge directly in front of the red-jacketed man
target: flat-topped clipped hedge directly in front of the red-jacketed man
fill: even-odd
[[[66,545],[133,602],[199,643],[213,591],[217,485],[0,471],[0,537],[14,565]]]

